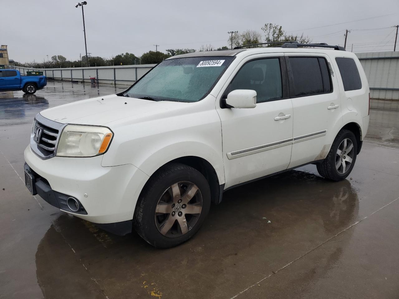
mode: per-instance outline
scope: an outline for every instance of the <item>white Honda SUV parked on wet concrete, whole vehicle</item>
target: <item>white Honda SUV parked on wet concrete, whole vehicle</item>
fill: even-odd
[[[342,180],[369,124],[365,73],[342,50],[286,43],[175,56],[120,94],[44,110],[24,153],[26,185],[167,248],[235,186],[310,163]]]

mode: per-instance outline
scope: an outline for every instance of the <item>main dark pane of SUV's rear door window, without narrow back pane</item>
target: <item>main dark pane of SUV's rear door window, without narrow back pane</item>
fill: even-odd
[[[317,57],[290,57],[294,94],[304,96],[324,92],[323,79]]]

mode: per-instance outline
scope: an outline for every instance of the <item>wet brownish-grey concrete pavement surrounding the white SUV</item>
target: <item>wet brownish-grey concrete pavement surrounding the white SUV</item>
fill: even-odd
[[[348,179],[308,165],[237,187],[192,240],[157,250],[60,212],[23,182],[36,113],[119,90],[0,92],[0,298],[398,298],[398,102],[372,100]]]

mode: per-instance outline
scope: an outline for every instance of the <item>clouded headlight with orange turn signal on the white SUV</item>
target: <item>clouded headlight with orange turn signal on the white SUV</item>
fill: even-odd
[[[105,153],[113,133],[109,128],[67,125],[59,138],[59,157],[93,157]]]

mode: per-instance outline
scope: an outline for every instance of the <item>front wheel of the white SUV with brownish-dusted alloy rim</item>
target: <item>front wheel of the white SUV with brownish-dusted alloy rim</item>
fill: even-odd
[[[174,247],[198,232],[210,205],[209,184],[198,170],[179,163],[167,164],[146,183],[133,225],[152,246]]]

